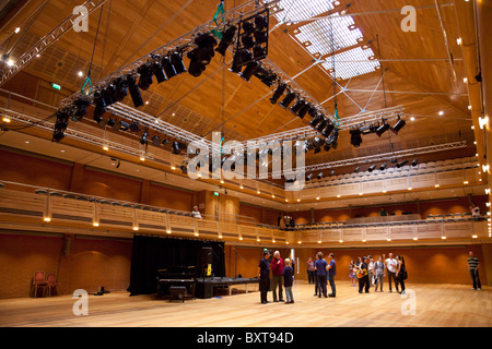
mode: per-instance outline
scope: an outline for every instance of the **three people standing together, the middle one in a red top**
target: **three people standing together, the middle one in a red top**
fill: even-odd
[[[270,251],[263,251],[263,257],[258,266],[259,289],[261,304],[269,303],[267,296],[271,289],[273,292],[273,302],[285,302],[286,304],[294,303],[294,294],[292,293],[292,286],[294,284],[294,268],[290,258],[282,260],[280,252],[273,252],[273,257],[270,262]],[[270,267],[272,279],[270,280]],[[285,288],[285,298],[283,299],[283,288]],[[277,292],[278,290],[278,292]]]

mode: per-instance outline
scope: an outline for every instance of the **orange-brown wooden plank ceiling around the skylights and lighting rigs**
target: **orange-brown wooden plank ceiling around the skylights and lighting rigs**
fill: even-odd
[[[35,21],[30,23],[36,9],[45,3],[42,0],[30,1],[0,28],[0,43],[8,40],[11,45],[14,39],[9,39],[9,36],[16,27],[21,27],[22,39],[11,56],[13,59],[17,58],[39,37],[69,16],[79,2],[50,0]],[[245,1],[225,0],[224,4],[226,10],[231,10],[243,2]],[[337,97],[340,118],[355,116],[362,109],[378,110],[402,106],[407,115],[414,116],[414,121],[407,119],[407,127],[398,135],[366,135],[358,148],[350,144],[349,133],[342,132],[337,151],[321,152],[318,155],[312,152],[306,160],[307,165],[460,139],[472,147],[472,121],[468,111],[467,86],[464,83],[465,68],[461,49],[456,41],[459,37],[457,13],[450,1],[438,2],[447,45],[454,58],[453,69],[445,60],[448,52],[434,0],[350,1],[350,13],[364,37],[360,46],[370,45],[382,59],[383,69],[338,82],[338,92],[340,86],[347,88]],[[109,0],[90,17],[87,33],[68,33],[24,71],[60,84],[63,86],[62,93],[70,95],[80,89],[84,82],[78,73],[89,70],[99,16],[93,82],[210,21],[218,3],[219,1]],[[336,9],[342,10],[348,3],[349,1],[342,0]],[[399,9],[405,5],[417,9],[414,33],[401,31],[400,23],[405,15]],[[273,27],[277,22],[272,22]],[[27,24],[31,24],[28,32],[23,33],[22,28]],[[313,57],[303,47],[303,43],[294,38],[294,31],[303,24],[282,24],[271,32],[269,59],[290,76],[312,67],[296,77],[296,82],[319,103],[329,99],[324,107],[332,113],[331,77],[319,64],[313,65]],[[229,52],[225,62],[231,60]],[[200,77],[183,74],[160,85],[154,83],[143,93],[149,105],[141,109],[199,135],[221,131],[223,125],[227,140],[237,141],[308,124],[309,117],[301,120],[278,105],[272,105],[268,98],[258,101],[272,88],[256,79],[248,83],[227,68],[216,55]],[[131,99],[127,98],[125,103],[130,105]],[[440,111],[443,113],[440,115]]]

